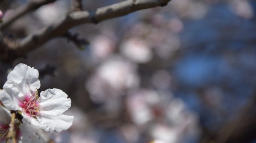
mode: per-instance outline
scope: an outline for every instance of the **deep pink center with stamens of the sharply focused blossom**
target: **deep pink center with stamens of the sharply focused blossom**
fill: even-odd
[[[26,95],[23,102],[20,102],[20,107],[22,107],[23,112],[28,116],[37,118],[39,113],[39,103],[38,96],[33,94],[32,96]]]

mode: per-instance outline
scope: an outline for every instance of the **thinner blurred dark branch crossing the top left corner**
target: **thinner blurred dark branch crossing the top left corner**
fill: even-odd
[[[43,5],[46,5],[50,2],[54,2],[56,0],[30,0],[26,5],[20,6],[17,10],[13,12],[10,16],[6,17],[4,22],[0,25],[0,30],[5,29],[10,26],[10,24],[16,19],[20,18],[24,14],[33,11]],[[1,2],[1,1],[0,1]]]

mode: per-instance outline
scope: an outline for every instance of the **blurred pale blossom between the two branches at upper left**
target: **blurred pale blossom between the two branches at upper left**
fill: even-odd
[[[51,25],[65,18],[67,8],[68,4],[66,1],[56,1],[38,8],[36,15],[45,25]]]

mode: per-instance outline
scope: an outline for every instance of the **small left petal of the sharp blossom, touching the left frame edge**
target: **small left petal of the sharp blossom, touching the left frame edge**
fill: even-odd
[[[17,100],[17,99],[13,99],[13,97],[7,94],[5,90],[0,91],[0,101],[5,105],[5,107],[8,110],[19,109],[18,104],[16,104],[16,102],[14,102],[13,100]]]

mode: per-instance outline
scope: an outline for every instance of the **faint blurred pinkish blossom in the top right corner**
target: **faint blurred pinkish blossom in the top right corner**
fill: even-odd
[[[247,0],[231,0],[231,10],[238,16],[250,19],[254,16],[254,10]]]

